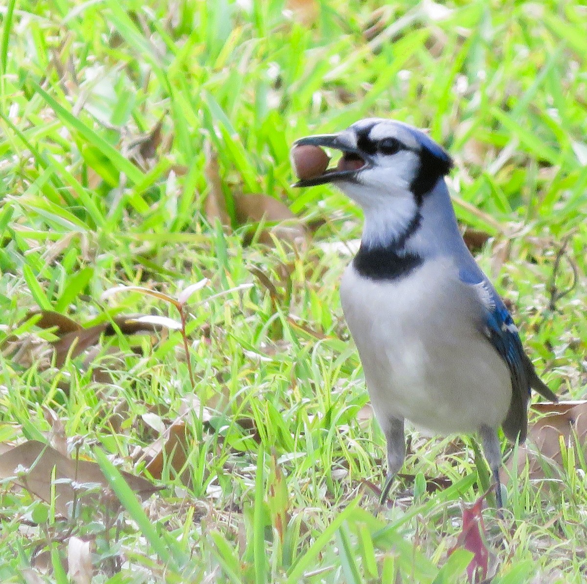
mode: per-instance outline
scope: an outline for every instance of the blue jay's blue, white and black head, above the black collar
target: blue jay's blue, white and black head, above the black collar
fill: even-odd
[[[395,120],[369,118],[337,134],[296,142],[302,145],[342,152],[336,168],[299,180],[295,186],[333,183],[358,203],[365,212],[363,244],[405,243],[416,227],[429,231],[427,236],[420,234],[425,239],[446,227],[451,236],[458,233],[443,180],[453,161],[420,130]]]

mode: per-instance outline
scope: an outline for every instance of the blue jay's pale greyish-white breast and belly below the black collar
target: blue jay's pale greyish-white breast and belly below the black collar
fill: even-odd
[[[391,283],[363,278],[351,265],[340,297],[383,427],[390,417],[438,434],[501,424],[510,373],[481,332],[475,291],[453,264],[426,263]]]

